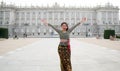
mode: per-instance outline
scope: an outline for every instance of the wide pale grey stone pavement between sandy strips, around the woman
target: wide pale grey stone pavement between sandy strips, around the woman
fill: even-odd
[[[0,71],[60,71],[58,38],[45,38],[0,56]],[[117,47],[117,46],[116,46]],[[73,71],[120,71],[120,51],[71,38]]]

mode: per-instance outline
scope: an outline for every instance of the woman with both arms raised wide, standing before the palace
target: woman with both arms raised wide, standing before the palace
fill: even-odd
[[[58,53],[60,56],[61,71],[72,71],[69,35],[75,27],[77,27],[78,25],[80,25],[81,23],[83,23],[85,21],[86,21],[86,18],[82,18],[81,22],[74,25],[70,29],[68,28],[68,24],[66,22],[63,22],[63,23],[61,23],[62,30],[59,30],[59,29],[55,28],[53,25],[47,23],[46,20],[42,20],[42,22],[45,25],[52,27],[60,36]]]

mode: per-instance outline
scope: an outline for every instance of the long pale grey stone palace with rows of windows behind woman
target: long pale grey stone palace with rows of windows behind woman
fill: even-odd
[[[4,2],[0,4],[0,27],[9,29],[9,37],[58,37],[57,33],[45,26],[41,19],[60,29],[62,22],[69,27],[80,22],[82,17],[87,21],[71,33],[71,37],[103,36],[105,29],[113,29],[120,35],[119,8],[110,3],[96,7],[65,7],[55,3],[53,6],[21,7]]]

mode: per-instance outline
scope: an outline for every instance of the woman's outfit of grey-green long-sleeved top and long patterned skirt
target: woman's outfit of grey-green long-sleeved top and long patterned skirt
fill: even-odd
[[[68,40],[67,42],[60,42],[58,46],[58,53],[60,56],[60,62],[61,62],[61,71],[72,71],[72,65],[71,65],[71,50],[70,50],[70,40],[69,35],[72,32],[72,30],[77,27],[80,23],[74,25],[70,29],[68,29],[66,32],[63,32],[62,30],[59,30],[55,28],[53,25],[48,24],[48,26],[51,26],[60,36],[60,39]]]

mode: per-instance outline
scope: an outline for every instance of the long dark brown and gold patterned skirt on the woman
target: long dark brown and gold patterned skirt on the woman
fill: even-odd
[[[61,71],[72,71],[70,46],[58,46]]]

